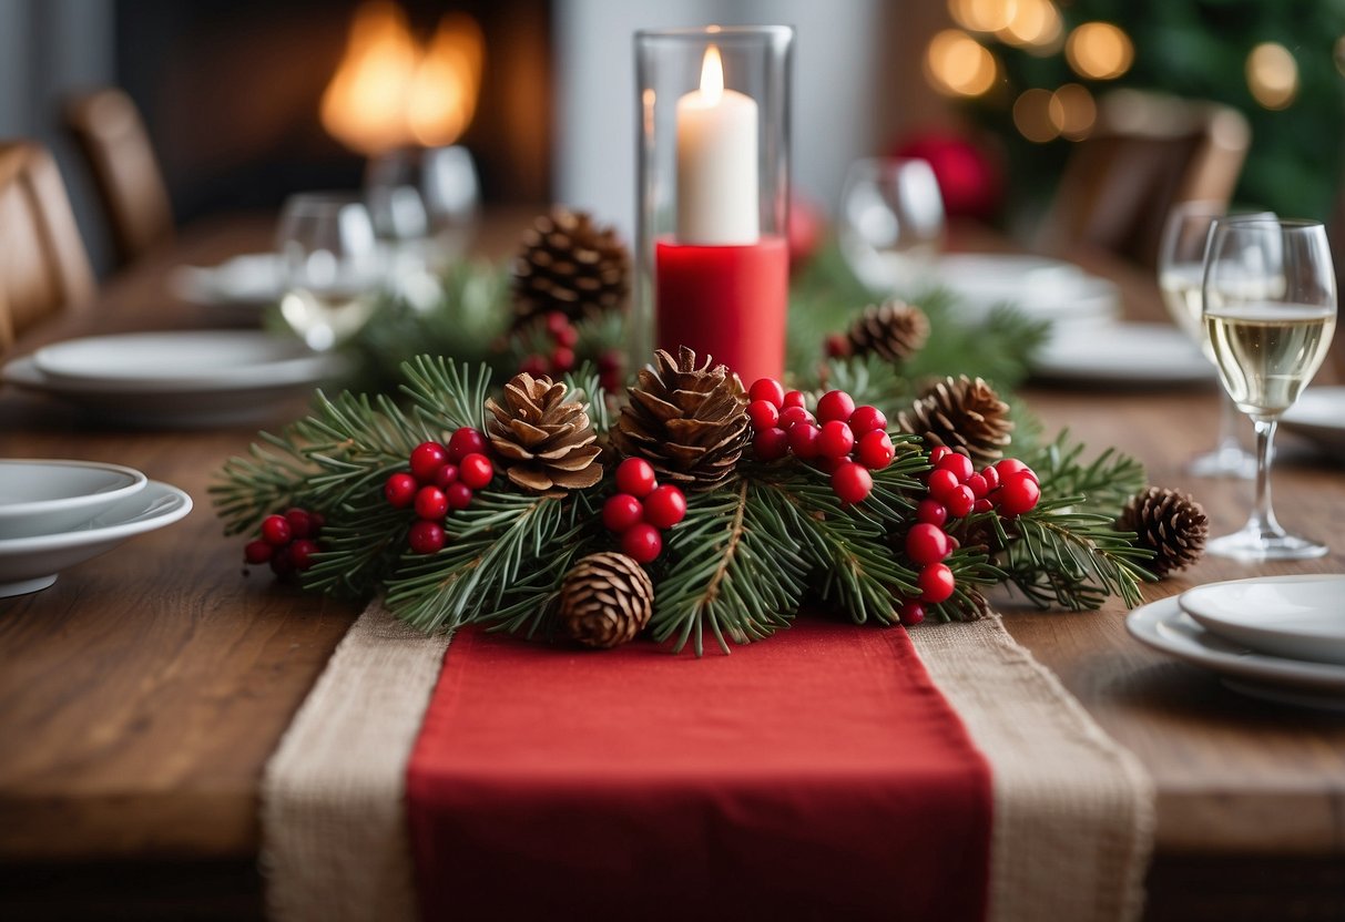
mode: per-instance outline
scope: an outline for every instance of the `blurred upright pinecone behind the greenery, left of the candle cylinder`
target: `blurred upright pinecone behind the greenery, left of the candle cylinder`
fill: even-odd
[[[523,233],[514,259],[514,325],[560,310],[570,320],[616,310],[631,290],[631,254],[612,227],[555,208]]]

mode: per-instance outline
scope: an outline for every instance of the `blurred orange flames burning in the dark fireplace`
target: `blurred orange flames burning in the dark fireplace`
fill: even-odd
[[[484,46],[471,16],[449,13],[422,47],[401,7],[370,0],[355,11],[346,54],[323,93],[323,126],[366,155],[452,144],[476,113]]]

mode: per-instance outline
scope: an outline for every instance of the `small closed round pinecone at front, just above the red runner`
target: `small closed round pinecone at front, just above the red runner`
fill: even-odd
[[[585,646],[611,649],[633,640],[652,610],[654,583],[624,554],[589,554],[561,583],[561,624]]]

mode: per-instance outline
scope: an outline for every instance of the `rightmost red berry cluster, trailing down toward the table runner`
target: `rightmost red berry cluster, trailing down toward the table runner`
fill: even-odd
[[[916,507],[916,524],[907,531],[907,556],[920,564],[920,597],[907,599],[898,609],[901,624],[924,621],[924,603],[937,605],[952,595],[956,579],[944,559],[958,542],[944,524],[972,512],[990,512],[1011,519],[1030,512],[1041,499],[1037,474],[1015,458],[1005,458],[978,473],[971,460],[944,445],[929,452],[933,469],[925,478],[929,496]]]

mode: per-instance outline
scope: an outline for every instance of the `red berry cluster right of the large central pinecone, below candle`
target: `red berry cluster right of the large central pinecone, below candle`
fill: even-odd
[[[854,405],[845,391],[827,391],[818,414],[808,413],[803,391],[785,391],[773,378],[760,378],[748,391],[752,448],[761,461],[794,454],[831,474],[831,489],[846,503],[859,503],[873,489],[870,470],[896,457],[888,418],[872,406]]]

